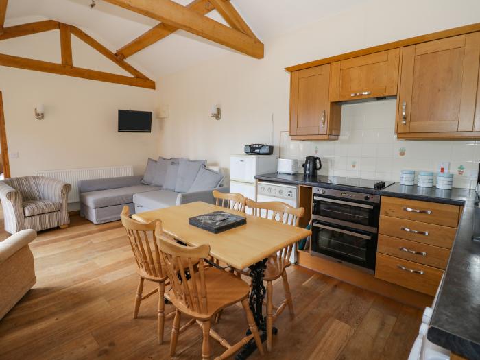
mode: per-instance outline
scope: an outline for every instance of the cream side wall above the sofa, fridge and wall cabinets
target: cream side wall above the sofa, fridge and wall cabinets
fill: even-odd
[[[263,39],[263,60],[226,53],[160,78],[157,105],[168,105],[170,111],[162,121],[160,154],[206,158],[228,167],[230,154],[243,152],[243,145],[272,143],[272,115],[273,143],[278,147],[280,131],[288,130],[289,121],[285,67],[477,23],[480,1],[374,0],[327,19],[321,19],[322,14],[318,18],[317,23],[280,38]],[[217,103],[221,121],[209,117],[211,105]],[[381,119],[389,122],[385,128],[393,129],[393,107],[392,111],[392,116]]]

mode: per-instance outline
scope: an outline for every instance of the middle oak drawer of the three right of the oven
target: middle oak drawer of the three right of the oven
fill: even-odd
[[[456,228],[448,226],[398,219],[398,217],[385,215],[380,217],[379,234],[440,246],[440,248],[451,249],[456,232]]]

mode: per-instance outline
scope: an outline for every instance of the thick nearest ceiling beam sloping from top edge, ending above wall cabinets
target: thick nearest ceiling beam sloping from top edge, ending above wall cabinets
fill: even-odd
[[[240,51],[254,58],[264,56],[263,43],[243,32],[200,15],[172,0],[105,0],[108,3],[138,12],[152,19],[202,36],[215,43]]]

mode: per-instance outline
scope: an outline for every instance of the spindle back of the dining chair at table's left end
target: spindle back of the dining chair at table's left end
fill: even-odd
[[[162,226],[162,221],[154,220],[141,223],[130,218],[128,206],[121,211],[121,224],[127,230],[128,240],[135,256],[136,265],[142,276],[160,280],[165,278],[162,268],[160,250],[155,239],[155,226]]]

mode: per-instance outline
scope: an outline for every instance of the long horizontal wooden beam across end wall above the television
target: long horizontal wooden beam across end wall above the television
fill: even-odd
[[[83,69],[80,67],[68,67],[53,62],[21,58],[19,56],[5,55],[3,53],[0,53],[0,65],[17,69],[42,71],[43,73],[81,77],[83,79],[97,80],[101,82],[112,82],[114,84],[137,86],[140,88],[155,88],[155,82],[149,79],[139,79],[137,77],[104,73],[103,71]]]

